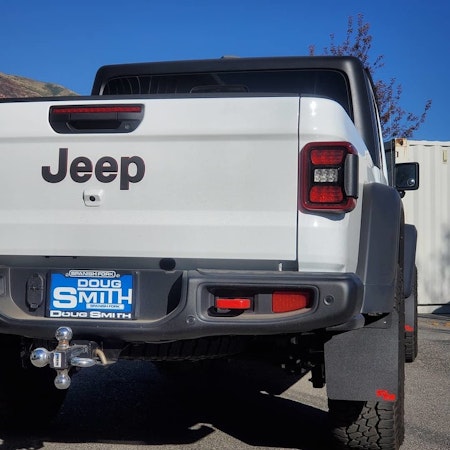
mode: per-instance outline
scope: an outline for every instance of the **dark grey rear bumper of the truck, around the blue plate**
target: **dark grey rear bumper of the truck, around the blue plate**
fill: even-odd
[[[30,307],[29,282],[44,280],[43,302]],[[164,342],[225,335],[275,335],[335,327],[360,314],[363,285],[355,274],[244,270],[131,271],[135,318],[100,320],[46,317],[48,276],[42,268],[0,271],[0,333],[52,339],[59,326],[70,326],[77,339]],[[28,282],[28,287],[27,287]],[[272,312],[272,292],[308,290],[308,308]],[[217,296],[245,296],[251,308],[217,311]]]

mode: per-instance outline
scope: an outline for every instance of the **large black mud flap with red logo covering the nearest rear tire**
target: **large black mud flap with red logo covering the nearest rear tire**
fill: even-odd
[[[333,335],[325,344],[332,400],[394,401],[399,394],[403,338],[396,310],[370,326]]]

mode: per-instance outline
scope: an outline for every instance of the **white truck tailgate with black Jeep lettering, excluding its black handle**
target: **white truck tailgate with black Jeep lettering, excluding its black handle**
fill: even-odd
[[[50,107],[90,103],[144,117],[130,133],[51,128]],[[295,260],[298,110],[295,96],[3,103],[0,254]]]

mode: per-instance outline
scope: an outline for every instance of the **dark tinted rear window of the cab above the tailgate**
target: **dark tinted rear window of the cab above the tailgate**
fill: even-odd
[[[298,94],[331,98],[351,116],[347,78],[337,70],[258,70],[124,76],[108,80],[102,95]]]

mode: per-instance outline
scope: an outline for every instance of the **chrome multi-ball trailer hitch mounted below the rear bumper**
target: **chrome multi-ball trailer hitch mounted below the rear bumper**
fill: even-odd
[[[96,364],[107,364],[104,353],[97,343],[85,341],[70,344],[73,333],[69,327],[59,327],[55,337],[58,345],[53,351],[39,347],[31,352],[30,360],[33,366],[49,365],[56,370],[55,386],[58,389],[68,389],[71,383],[69,370],[72,367],[92,367]]]

